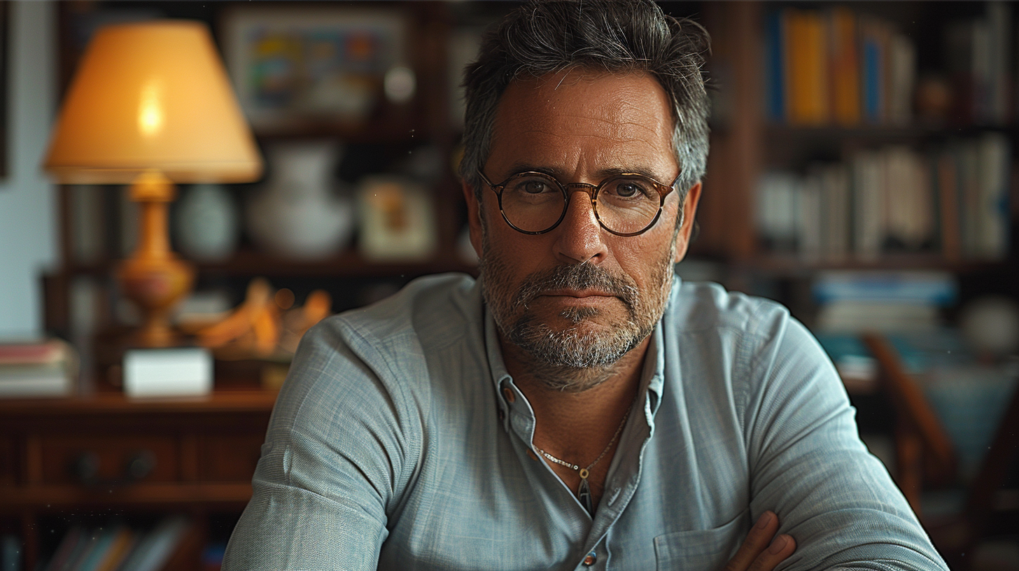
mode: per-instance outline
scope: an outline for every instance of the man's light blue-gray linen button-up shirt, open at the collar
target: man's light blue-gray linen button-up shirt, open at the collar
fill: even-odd
[[[593,519],[529,454],[534,423],[470,277],[331,317],[223,569],[717,571],[765,510],[798,546],[780,569],[947,569],[830,361],[766,300],[677,278]]]

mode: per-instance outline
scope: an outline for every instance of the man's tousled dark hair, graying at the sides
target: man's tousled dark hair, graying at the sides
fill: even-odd
[[[481,200],[499,98],[515,79],[572,67],[654,76],[672,102],[681,202],[704,175],[709,103],[702,66],[711,40],[699,23],[665,15],[650,0],[532,0],[489,30],[464,71],[467,112],[461,177]]]

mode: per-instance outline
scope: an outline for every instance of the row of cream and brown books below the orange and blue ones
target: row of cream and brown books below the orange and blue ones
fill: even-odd
[[[925,252],[947,261],[1009,255],[1011,150],[1000,133],[921,152],[863,151],[806,174],[764,173],[757,227],[765,251],[806,261]]]

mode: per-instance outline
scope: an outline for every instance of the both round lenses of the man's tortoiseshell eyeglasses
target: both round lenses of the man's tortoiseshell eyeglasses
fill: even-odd
[[[502,212],[524,231],[549,229],[567,209],[567,195],[559,183],[540,173],[521,173],[505,183]],[[614,232],[645,229],[661,207],[654,184],[640,175],[613,176],[601,184],[594,204],[598,219]]]

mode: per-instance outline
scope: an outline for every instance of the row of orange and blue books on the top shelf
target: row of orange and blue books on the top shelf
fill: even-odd
[[[916,48],[880,18],[838,6],[783,8],[765,24],[768,116],[792,125],[912,120]]]

